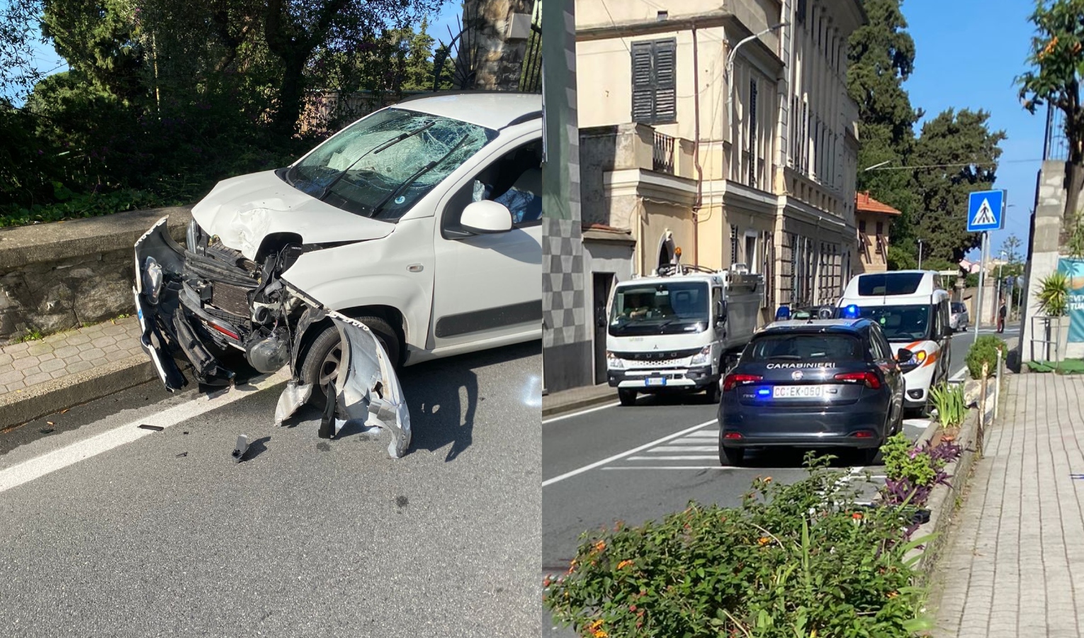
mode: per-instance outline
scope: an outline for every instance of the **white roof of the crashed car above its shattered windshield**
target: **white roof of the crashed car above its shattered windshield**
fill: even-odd
[[[542,118],[542,95],[507,91],[439,91],[408,98],[401,107],[451,117],[491,129]]]

